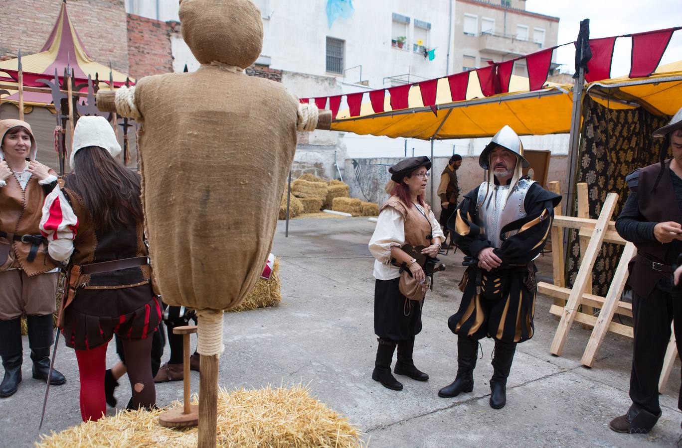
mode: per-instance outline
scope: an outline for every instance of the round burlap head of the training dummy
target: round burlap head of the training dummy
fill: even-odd
[[[251,0],[181,0],[182,37],[197,61],[246,68],[263,48],[261,12]]]

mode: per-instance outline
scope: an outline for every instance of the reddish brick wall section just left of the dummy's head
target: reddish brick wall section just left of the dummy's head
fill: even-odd
[[[128,14],[130,76],[139,79],[173,71],[170,33],[174,32],[176,25],[179,24]]]

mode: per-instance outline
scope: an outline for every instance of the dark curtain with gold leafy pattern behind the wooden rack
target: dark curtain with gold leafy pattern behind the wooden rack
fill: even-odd
[[[589,96],[583,103],[582,139],[578,157],[578,180],[587,182],[590,217],[597,219],[606,193],[618,193],[613,219],[618,217],[627,199],[625,176],[640,167],[658,162],[662,138],[653,138],[655,129],[670,117],[653,115],[644,108],[610,110]],[[670,157],[668,155],[668,157]],[[575,216],[577,201],[573,205]],[[619,244],[605,243],[592,270],[593,293],[606,295],[623,251]],[[567,285],[573,285],[580,268],[578,232],[569,231],[566,260]]]

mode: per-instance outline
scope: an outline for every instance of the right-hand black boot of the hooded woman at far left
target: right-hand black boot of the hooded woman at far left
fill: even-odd
[[[50,374],[50,347],[52,347],[55,338],[53,336],[53,317],[52,315],[44,316],[27,316],[26,322],[29,327],[29,347],[31,347],[31,361],[33,361],[33,378],[48,381],[48,374]],[[50,384],[59,385],[66,383],[64,375],[59,373],[57,369],[52,370],[52,379]]]

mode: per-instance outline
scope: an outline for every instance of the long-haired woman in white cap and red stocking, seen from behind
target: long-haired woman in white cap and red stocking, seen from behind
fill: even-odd
[[[161,311],[151,289],[139,175],[114,159],[121,147],[105,118],[81,117],[73,140],[73,171],[48,195],[40,225],[50,255],[70,258],[59,325],[76,350],[87,421],[106,410],[105,357],[113,334],[123,342],[132,408],[155,404],[151,336]]]

